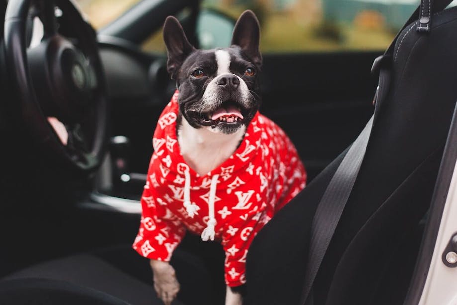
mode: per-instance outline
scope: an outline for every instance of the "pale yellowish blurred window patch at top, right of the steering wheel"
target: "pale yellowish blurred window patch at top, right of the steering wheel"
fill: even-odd
[[[75,0],[83,15],[99,29],[122,15],[141,0]]]

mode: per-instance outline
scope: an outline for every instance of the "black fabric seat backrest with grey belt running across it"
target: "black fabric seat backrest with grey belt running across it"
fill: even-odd
[[[457,98],[456,8],[434,15],[428,34],[415,26],[396,43],[389,91],[314,282],[314,305],[403,304]],[[299,304],[314,212],[345,154],[255,238],[248,304]]]

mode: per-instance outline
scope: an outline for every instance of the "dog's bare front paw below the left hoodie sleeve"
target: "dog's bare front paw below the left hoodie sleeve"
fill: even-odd
[[[176,279],[175,269],[167,262],[150,261],[154,275],[154,289],[165,305],[170,305],[180,290],[180,283]]]

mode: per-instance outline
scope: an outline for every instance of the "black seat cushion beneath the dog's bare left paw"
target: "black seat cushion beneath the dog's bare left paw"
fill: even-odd
[[[171,263],[182,286],[174,305],[215,304],[211,296],[214,281],[201,259],[178,249]],[[0,304],[32,301],[46,305],[163,304],[154,291],[148,260],[129,245],[43,262],[0,281]]]

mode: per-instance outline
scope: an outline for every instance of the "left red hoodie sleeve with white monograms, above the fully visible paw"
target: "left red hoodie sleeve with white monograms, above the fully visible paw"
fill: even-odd
[[[141,222],[133,243],[140,255],[149,259],[170,261],[173,251],[185,235],[181,221],[173,215],[160,198],[151,192],[150,173],[141,197]]]

